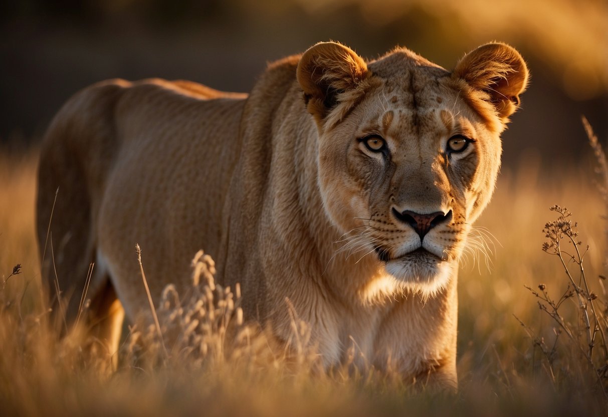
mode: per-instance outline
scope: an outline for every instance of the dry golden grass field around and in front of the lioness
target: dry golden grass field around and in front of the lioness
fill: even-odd
[[[81,351],[81,329],[60,339],[47,326],[33,229],[35,162],[34,153],[0,154],[0,415],[606,414],[606,346],[596,328],[606,329],[598,279],[606,206],[589,170],[548,173],[533,158],[503,170],[477,224],[480,235],[496,236],[491,271],[483,256],[469,256],[461,268],[460,392],[432,399],[411,395],[390,373],[361,374],[348,364],[319,372],[305,348],[306,327],[295,321],[301,349],[287,360],[263,332],[243,324],[238,289],[216,285],[213,261],[200,253],[192,292],[183,297],[167,288],[154,300],[168,353],[155,326],[136,326],[123,341],[119,371],[99,374]],[[572,281],[557,257],[542,252],[556,202],[579,221],[578,247],[590,247],[581,258],[562,255]],[[586,285],[578,281],[582,260]],[[11,275],[16,264],[20,273]],[[568,291],[573,295],[562,300]]]

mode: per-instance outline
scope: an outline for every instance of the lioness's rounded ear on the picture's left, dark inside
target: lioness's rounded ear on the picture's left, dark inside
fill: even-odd
[[[297,80],[304,91],[308,111],[322,122],[340,99],[354,95],[368,77],[367,64],[350,48],[335,42],[310,47],[300,58]]]

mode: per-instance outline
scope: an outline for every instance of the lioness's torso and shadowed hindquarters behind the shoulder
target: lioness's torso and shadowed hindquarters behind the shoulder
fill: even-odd
[[[103,81],[68,100],[43,141],[38,191],[41,256],[50,222],[61,288],[80,294],[93,261],[97,275],[137,277],[135,243],[152,277],[219,247],[246,97],[153,79]]]

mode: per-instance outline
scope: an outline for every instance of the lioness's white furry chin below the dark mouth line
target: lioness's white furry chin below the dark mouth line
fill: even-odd
[[[454,264],[419,249],[387,261],[385,268],[410,291],[420,292],[423,297],[434,297],[449,282]]]

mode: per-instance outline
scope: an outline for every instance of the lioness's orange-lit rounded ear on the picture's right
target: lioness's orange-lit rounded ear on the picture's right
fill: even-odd
[[[489,43],[465,55],[452,72],[465,80],[496,108],[503,122],[519,107],[519,95],[528,85],[528,67],[513,47]]]

